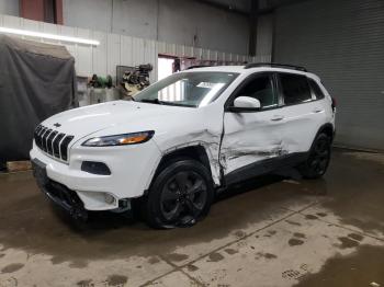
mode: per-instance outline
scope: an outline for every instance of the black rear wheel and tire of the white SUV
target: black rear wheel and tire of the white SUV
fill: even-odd
[[[329,165],[331,153],[331,139],[320,133],[314,140],[307,160],[300,165],[298,171],[305,179],[321,177]]]

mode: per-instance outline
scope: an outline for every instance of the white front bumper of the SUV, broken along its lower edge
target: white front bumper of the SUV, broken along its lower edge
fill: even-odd
[[[57,196],[53,196],[54,192],[49,188],[60,191],[55,195],[76,194],[86,210],[117,209],[121,199],[142,196],[148,188],[160,160],[160,151],[151,140],[143,145],[109,148],[87,148],[75,144],[69,152],[68,164],[49,157],[35,144],[30,156],[32,161],[37,159],[45,164],[46,176],[50,181],[45,187],[45,193],[50,195],[53,200],[57,199]],[[84,172],[81,170],[83,161],[103,162],[110,168],[111,174]],[[42,186],[41,188],[44,190]],[[114,200],[111,200],[111,197]],[[63,206],[63,196],[58,198],[58,204]],[[67,203],[68,200],[65,200],[65,204]]]

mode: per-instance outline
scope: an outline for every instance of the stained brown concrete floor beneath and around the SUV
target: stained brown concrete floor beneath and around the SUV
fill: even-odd
[[[317,181],[256,179],[188,229],[76,223],[30,172],[0,175],[0,286],[384,286],[384,154],[335,150]]]

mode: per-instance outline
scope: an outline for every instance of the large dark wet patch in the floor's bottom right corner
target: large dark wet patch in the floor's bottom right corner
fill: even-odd
[[[308,274],[295,287],[384,286],[384,248],[362,245],[349,256],[335,256],[319,273]]]

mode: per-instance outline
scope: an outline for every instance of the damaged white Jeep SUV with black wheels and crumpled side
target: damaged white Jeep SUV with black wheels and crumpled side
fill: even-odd
[[[335,103],[317,76],[272,64],[195,68],[133,101],[57,114],[37,126],[39,187],[75,217],[139,205],[153,227],[192,225],[217,190],[282,167],[321,176]]]

